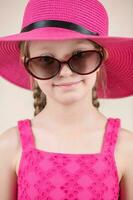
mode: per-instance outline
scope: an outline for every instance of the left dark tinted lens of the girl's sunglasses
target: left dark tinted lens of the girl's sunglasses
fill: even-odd
[[[49,56],[31,58],[28,69],[39,78],[50,78],[58,71],[58,61]]]

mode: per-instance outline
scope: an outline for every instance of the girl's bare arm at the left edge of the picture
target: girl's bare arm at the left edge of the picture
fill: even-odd
[[[0,134],[0,199],[17,199],[17,176],[15,155],[17,152],[17,131],[10,128]]]

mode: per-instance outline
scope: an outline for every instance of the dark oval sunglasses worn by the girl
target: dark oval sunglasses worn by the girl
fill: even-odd
[[[98,50],[79,51],[67,61],[60,62],[51,56],[24,57],[24,66],[29,74],[40,80],[51,79],[61,70],[61,64],[67,63],[69,68],[80,75],[95,72],[104,60],[102,48]]]

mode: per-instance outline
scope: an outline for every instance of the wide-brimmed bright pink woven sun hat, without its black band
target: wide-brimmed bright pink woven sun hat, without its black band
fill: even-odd
[[[98,85],[98,98],[133,95],[133,38],[108,35],[108,14],[97,0],[30,0],[20,33],[0,37],[0,76],[31,90],[30,75],[20,62],[19,43],[34,40],[90,39],[104,47],[108,59],[106,95]]]

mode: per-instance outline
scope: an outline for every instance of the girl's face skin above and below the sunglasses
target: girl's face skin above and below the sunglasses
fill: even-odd
[[[30,57],[53,56],[60,61],[67,61],[74,52],[94,50],[94,45],[88,40],[62,40],[62,41],[32,41],[29,45]],[[97,70],[98,71],[98,70]],[[61,71],[52,79],[38,80],[41,90],[48,100],[62,104],[79,101],[89,95],[91,101],[92,87],[96,81],[96,71],[89,75],[80,75],[72,72],[67,64],[62,64]],[[78,82],[69,87],[57,86],[63,83]]]

